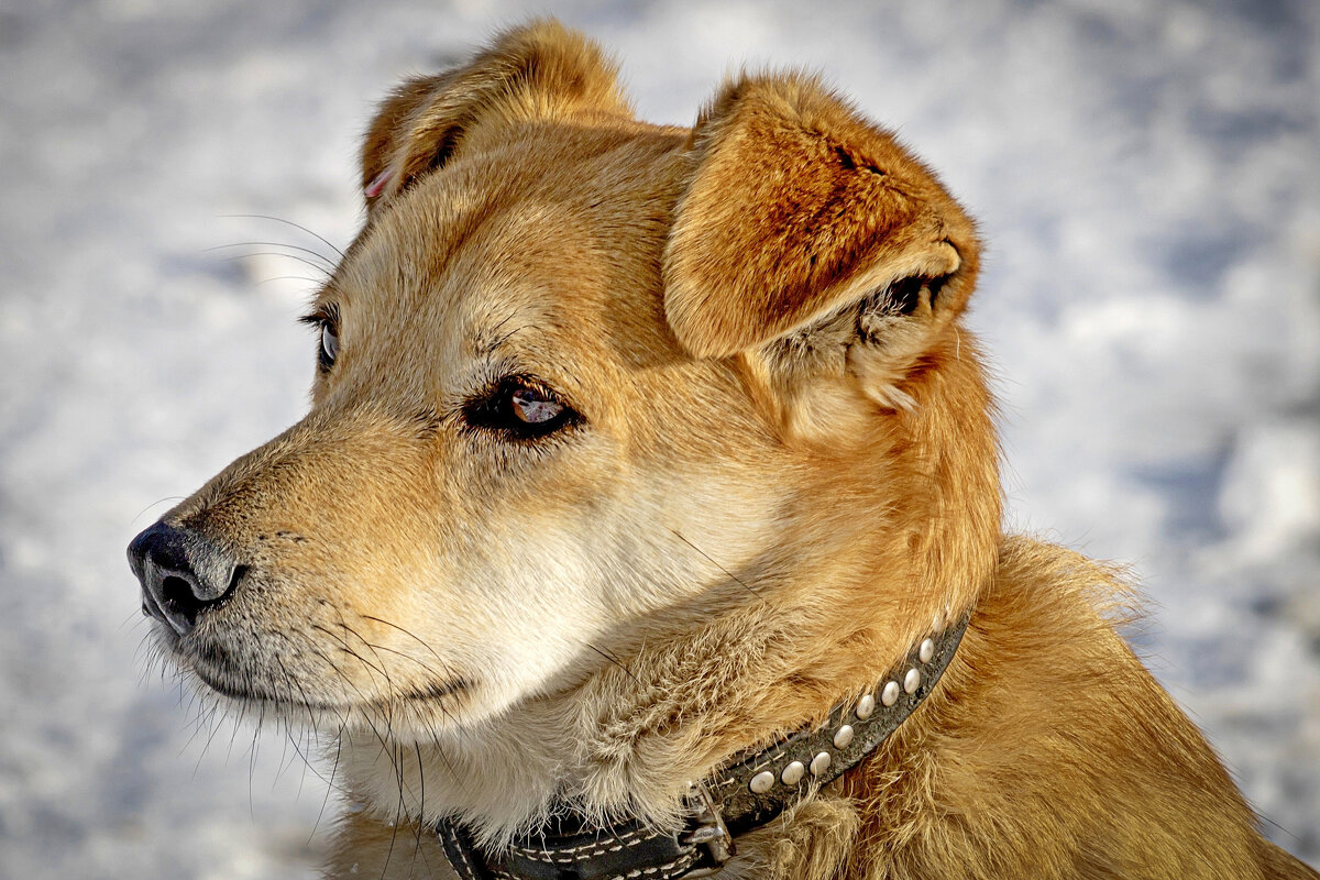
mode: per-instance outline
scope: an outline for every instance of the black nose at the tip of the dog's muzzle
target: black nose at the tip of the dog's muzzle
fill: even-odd
[[[143,584],[143,612],[189,633],[198,616],[224,599],[243,567],[191,529],[157,522],[128,545],[128,565]]]

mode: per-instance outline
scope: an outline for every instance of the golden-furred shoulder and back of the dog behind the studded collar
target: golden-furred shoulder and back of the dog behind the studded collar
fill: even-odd
[[[1121,636],[1135,599],[1118,566],[1006,538],[941,697],[857,785],[883,805],[857,856],[924,877],[1262,876],[1250,807]]]

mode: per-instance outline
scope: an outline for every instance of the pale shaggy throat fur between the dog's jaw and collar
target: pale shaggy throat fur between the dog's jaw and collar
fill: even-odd
[[[414,740],[396,730],[385,748],[375,732],[346,734],[342,769],[381,818],[434,826],[458,817],[484,848],[507,847],[564,805],[598,827],[622,818],[678,827],[690,781],[828,726],[833,708],[867,691],[880,699],[883,676],[942,627],[932,616],[945,611],[925,616],[903,643],[898,625],[854,619],[841,628],[850,615],[832,613],[842,599],[829,596],[857,590],[836,584],[820,606],[767,594],[694,636],[603,665],[581,686],[525,702],[479,730]]]

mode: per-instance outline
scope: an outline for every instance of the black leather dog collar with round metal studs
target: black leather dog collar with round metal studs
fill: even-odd
[[[486,852],[459,823],[436,829],[461,880],[675,880],[719,871],[734,838],[766,825],[809,790],[857,767],[935,689],[953,660],[970,612],[925,639],[878,687],[836,706],[820,727],[799,731],[705,782],[690,785],[680,829],[628,821],[599,830],[525,836]]]

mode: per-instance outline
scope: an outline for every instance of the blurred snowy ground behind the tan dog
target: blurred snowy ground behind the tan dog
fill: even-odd
[[[304,408],[308,268],[209,248],[318,244],[226,215],[347,241],[372,103],[528,11],[0,0],[0,875],[309,872],[325,786],[140,681],[123,548]],[[648,119],[804,63],[942,170],[1015,525],[1135,563],[1152,668],[1320,860],[1320,4],[553,11]]]

